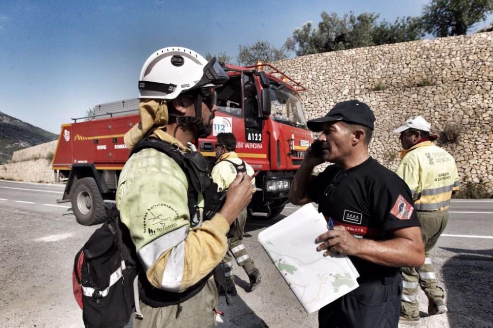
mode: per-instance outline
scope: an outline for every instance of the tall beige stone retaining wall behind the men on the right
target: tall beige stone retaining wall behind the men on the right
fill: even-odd
[[[377,117],[371,155],[395,169],[392,130],[422,115],[432,132],[459,131],[441,145],[456,159],[462,181],[493,192],[493,33],[476,33],[296,57],[275,63],[307,87],[308,118],[342,100],[359,99]]]

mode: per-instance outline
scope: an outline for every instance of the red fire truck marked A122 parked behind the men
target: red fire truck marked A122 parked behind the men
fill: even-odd
[[[306,89],[270,64],[224,69],[230,79],[217,89],[212,134],[195,146],[213,161],[215,135],[234,133],[238,156],[259,171],[248,215],[270,219],[284,208],[294,173],[313,140],[298,95]],[[123,135],[140,121],[138,104],[134,98],[97,105],[94,116],[62,125],[52,168],[55,181],[67,183],[57,202],[71,202],[82,225],[104,222],[115,201],[130,153]]]

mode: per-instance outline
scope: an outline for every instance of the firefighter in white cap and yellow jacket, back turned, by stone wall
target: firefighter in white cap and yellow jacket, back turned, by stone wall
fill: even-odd
[[[428,314],[447,312],[444,292],[438,286],[430,253],[438,237],[445,230],[449,219],[452,193],[459,188],[457,166],[454,158],[444,149],[433,144],[431,125],[417,116],[395,129],[400,133],[402,159],[395,173],[409,186],[414,207],[421,223],[425,261],[419,268],[402,268],[403,292],[401,296],[400,323],[420,323],[418,287],[428,297]]]

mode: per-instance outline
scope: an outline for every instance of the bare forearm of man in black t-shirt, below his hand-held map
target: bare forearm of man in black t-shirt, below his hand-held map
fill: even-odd
[[[408,238],[377,241],[359,239],[358,252],[353,254],[363,260],[386,266],[420,267],[424,262],[423,243]]]

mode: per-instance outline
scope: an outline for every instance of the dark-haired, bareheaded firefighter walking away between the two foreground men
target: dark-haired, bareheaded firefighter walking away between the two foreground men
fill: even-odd
[[[212,168],[212,180],[217,184],[218,191],[226,190],[231,182],[234,181],[238,172],[244,171],[250,177],[253,176],[253,168],[246,164],[235,153],[236,138],[233,133],[219,133],[216,141],[217,162]],[[255,188],[255,178],[251,180]],[[231,225],[228,236],[229,251],[222,261],[224,274],[226,277],[226,289],[228,294],[236,295],[236,287],[233,275],[233,257],[238,265],[245,270],[250,281],[249,292],[253,291],[260,284],[260,271],[255,267],[253,260],[246,252],[243,244],[243,232],[246,224],[246,207],[242,210],[236,222]]]

